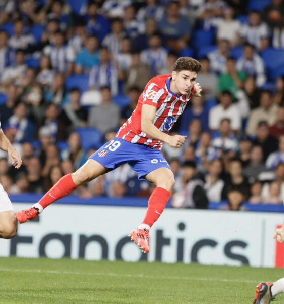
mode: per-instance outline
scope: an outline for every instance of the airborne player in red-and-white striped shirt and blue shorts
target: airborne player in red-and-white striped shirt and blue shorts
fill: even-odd
[[[176,60],[171,75],[152,78],[141,94],[131,117],[116,136],[105,143],[75,173],[63,176],[32,208],[16,213],[20,223],[34,219],[49,204],[65,197],[101,174],[128,163],[140,179],[156,185],[148,202],[146,215],[131,239],[149,252],[149,230],[162,214],[174,185],[173,173],[161,154],[162,142],[181,147],[186,136],[168,135],[192,95],[201,96],[196,83],[201,64],[191,57]]]

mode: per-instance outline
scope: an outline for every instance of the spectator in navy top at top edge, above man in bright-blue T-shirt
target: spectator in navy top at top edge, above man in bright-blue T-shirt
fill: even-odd
[[[96,35],[101,43],[110,31],[110,21],[98,14],[98,4],[90,1],[85,16],[86,31],[89,35]]]

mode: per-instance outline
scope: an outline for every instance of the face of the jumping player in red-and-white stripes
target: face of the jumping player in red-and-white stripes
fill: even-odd
[[[197,73],[192,71],[172,72],[171,91],[177,96],[187,95],[196,82]]]

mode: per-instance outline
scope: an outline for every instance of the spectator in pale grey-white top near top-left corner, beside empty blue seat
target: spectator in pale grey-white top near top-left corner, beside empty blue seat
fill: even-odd
[[[35,39],[32,34],[24,34],[23,20],[16,20],[14,22],[14,34],[9,39],[9,47],[18,50],[22,49],[28,52],[28,47],[35,44]]]

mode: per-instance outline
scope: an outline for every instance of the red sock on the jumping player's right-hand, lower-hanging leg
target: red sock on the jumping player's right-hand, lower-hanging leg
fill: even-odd
[[[150,227],[160,217],[170,197],[170,191],[156,187],[148,201],[148,208],[142,223]]]

